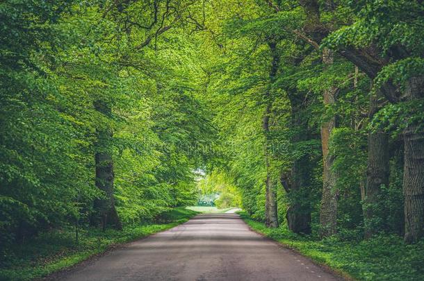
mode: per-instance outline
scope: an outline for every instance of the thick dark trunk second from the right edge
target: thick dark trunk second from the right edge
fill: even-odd
[[[380,95],[370,96],[369,119],[378,111]],[[364,198],[365,238],[370,238],[382,228],[384,210],[377,206],[381,187],[389,185],[389,135],[383,130],[368,133],[368,162],[366,169],[366,193]]]

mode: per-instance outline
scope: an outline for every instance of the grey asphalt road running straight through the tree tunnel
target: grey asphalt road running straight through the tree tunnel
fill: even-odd
[[[341,280],[250,230],[237,214],[200,214],[113,250],[61,280]]]

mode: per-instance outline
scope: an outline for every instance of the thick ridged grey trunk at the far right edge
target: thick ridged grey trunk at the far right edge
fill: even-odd
[[[424,77],[409,79],[407,101],[424,98]],[[409,125],[404,133],[403,194],[405,196],[405,241],[414,243],[423,237],[424,227],[424,128]]]

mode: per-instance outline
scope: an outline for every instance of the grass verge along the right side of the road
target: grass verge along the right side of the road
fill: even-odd
[[[378,235],[372,239],[346,239],[335,235],[323,240],[295,235],[286,225],[266,228],[245,212],[238,212],[247,225],[270,239],[329,266],[353,280],[424,280],[424,239],[407,245],[398,235]]]

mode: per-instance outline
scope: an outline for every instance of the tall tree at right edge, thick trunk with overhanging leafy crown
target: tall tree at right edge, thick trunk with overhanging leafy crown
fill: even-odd
[[[419,211],[424,209],[423,201],[417,200],[423,194],[423,187],[421,180],[417,180],[421,177],[416,176],[418,171],[424,169],[424,162],[410,149],[414,147],[414,151],[421,152],[423,148],[422,128],[415,125],[418,119],[421,120],[421,105],[411,103],[423,99],[422,92],[414,86],[421,85],[424,73],[423,28],[420,27],[424,22],[421,15],[423,5],[421,1],[352,1],[348,8],[358,16],[356,21],[347,28],[334,31],[325,44],[337,49],[374,79],[375,87],[389,102],[400,108],[407,104],[410,107],[407,110],[409,116],[402,119],[407,124],[404,132],[403,180],[405,241],[411,243],[423,236],[424,227]],[[382,9],[384,13],[380,12]],[[370,36],[360,37],[359,34]],[[405,124],[397,125],[402,128]],[[384,178],[384,175],[379,178]]]

